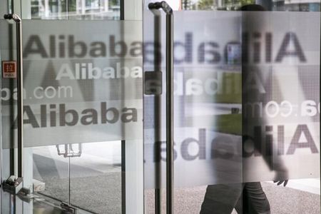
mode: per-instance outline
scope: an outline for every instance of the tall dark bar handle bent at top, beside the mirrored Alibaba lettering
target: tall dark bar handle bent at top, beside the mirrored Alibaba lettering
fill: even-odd
[[[166,14],[166,208],[173,213],[173,10],[165,2],[148,4],[148,9],[163,9]]]

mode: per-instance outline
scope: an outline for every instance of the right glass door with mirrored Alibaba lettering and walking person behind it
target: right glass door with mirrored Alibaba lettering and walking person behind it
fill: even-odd
[[[150,2],[146,210],[166,213],[168,21]],[[177,2],[173,213],[320,213],[320,1]]]

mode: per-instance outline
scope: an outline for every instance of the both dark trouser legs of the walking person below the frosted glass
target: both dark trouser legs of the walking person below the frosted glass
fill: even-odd
[[[208,185],[200,214],[270,214],[260,182]]]

